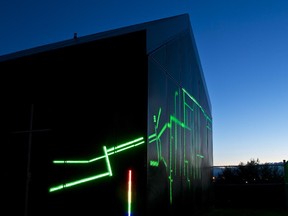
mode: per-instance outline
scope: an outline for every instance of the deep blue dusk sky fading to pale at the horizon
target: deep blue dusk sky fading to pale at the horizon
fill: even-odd
[[[10,0],[0,55],[189,13],[210,94],[214,165],[288,160],[287,0]]]

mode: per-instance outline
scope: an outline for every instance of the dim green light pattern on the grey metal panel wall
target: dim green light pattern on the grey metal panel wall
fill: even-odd
[[[182,93],[182,94],[181,94]],[[180,97],[182,95],[182,97]],[[182,101],[181,101],[182,100]],[[192,104],[189,101],[192,101]],[[178,103],[178,104],[177,104]],[[182,104],[182,105],[180,105]],[[183,112],[183,121],[178,118],[177,114],[179,114],[179,109],[182,107]],[[196,109],[198,107],[198,109]],[[204,155],[200,154],[201,152],[201,146],[200,146],[200,138],[198,134],[200,131],[200,128],[202,125],[199,125],[199,123],[196,123],[194,125],[194,121],[198,121],[197,119],[200,118],[200,113],[203,114],[204,118],[206,119],[206,125],[204,127],[208,130],[212,131],[212,118],[205,112],[204,108],[200,105],[200,103],[194,98],[191,94],[189,94],[184,88],[181,88],[181,91],[176,91],[174,94],[174,111],[173,114],[169,116],[169,121],[166,123],[163,123],[160,127],[160,117],[162,113],[162,108],[159,108],[158,114],[153,115],[153,122],[155,124],[154,126],[154,133],[150,134],[148,136],[148,142],[149,145],[154,143],[156,148],[156,155],[157,159],[154,158],[154,160],[150,160],[150,166],[157,167],[159,166],[160,159],[165,162],[165,158],[162,157],[162,145],[161,145],[161,137],[162,135],[168,130],[168,133],[170,134],[169,143],[170,143],[170,150],[169,150],[169,182],[170,182],[170,203],[172,203],[172,195],[173,195],[173,178],[175,175],[183,175],[186,176],[187,183],[190,188],[190,175],[192,175],[194,178],[200,178],[201,176],[201,159],[204,159]],[[193,114],[192,114],[193,113]],[[194,119],[196,118],[196,120]],[[184,136],[178,136],[178,133],[180,132],[180,129],[183,130]],[[187,139],[187,136],[185,135],[187,133],[189,135],[189,140]],[[183,139],[183,140],[182,140]],[[181,143],[183,142],[183,146],[181,146]],[[192,158],[186,158],[186,142],[193,142],[194,147],[189,147],[189,152],[193,152]],[[178,151],[180,151],[181,159],[183,160],[183,163],[181,162],[179,165],[177,165],[177,158],[178,158]],[[174,158],[174,163],[172,162]],[[198,158],[198,159],[197,159]],[[165,162],[166,163],[166,162]],[[192,166],[192,163],[195,167]],[[179,171],[177,172],[177,166],[179,166]],[[194,171],[192,172],[192,169]],[[191,171],[190,171],[191,170]]]

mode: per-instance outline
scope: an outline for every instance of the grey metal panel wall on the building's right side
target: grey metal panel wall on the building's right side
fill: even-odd
[[[192,40],[186,31],[149,54],[150,214],[194,211],[210,199],[212,117]]]

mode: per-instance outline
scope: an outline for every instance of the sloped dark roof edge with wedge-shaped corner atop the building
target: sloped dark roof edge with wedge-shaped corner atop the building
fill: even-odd
[[[145,23],[135,24],[127,27],[122,27],[118,29],[113,29],[105,32],[100,32],[92,35],[77,37],[77,39],[68,39],[56,43],[51,43],[48,45],[38,46],[15,53],[6,54],[0,56],[1,61],[7,61],[10,59],[19,58],[22,56],[32,55],[40,52],[45,52],[53,49],[59,49],[66,46],[72,46],[81,43],[87,43],[95,40],[100,40],[104,38],[120,36],[127,33],[132,33],[136,31],[146,31],[146,50],[150,53],[161,44],[169,41],[173,36],[179,34],[182,31],[191,28],[189,15],[181,14],[168,18],[162,18],[154,21],[149,21]],[[157,35],[157,37],[155,37]]]

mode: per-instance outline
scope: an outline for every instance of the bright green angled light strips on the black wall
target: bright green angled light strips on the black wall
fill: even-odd
[[[108,172],[51,187],[49,189],[49,192],[54,192],[54,191],[61,190],[61,189],[67,188],[67,187],[72,187],[72,186],[75,186],[75,185],[78,185],[81,183],[85,183],[85,182],[92,181],[95,179],[103,178],[106,176],[111,177],[112,176],[112,169],[111,169],[111,165],[110,165],[110,161],[109,161],[109,156],[114,155],[114,154],[119,153],[119,152],[122,152],[124,150],[130,149],[130,148],[133,148],[133,147],[137,147],[137,146],[142,145],[144,143],[145,143],[144,137],[140,137],[140,138],[137,138],[137,139],[134,139],[132,141],[117,145],[116,147],[112,147],[109,149],[106,149],[106,146],[103,146],[104,155],[90,159],[90,160],[55,160],[55,161],[53,161],[53,163],[55,163],[55,164],[87,164],[87,163],[95,162],[95,161],[100,160],[100,159],[105,159]]]

